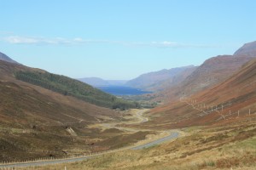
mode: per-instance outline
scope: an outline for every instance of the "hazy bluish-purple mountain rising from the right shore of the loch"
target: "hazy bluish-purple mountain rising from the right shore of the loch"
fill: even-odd
[[[126,86],[132,88],[141,88],[148,91],[163,90],[166,87],[172,87],[178,82],[182,82],[190,72],[195,70],[194,65],[172,68],[170,70],[161,70],[146,73],[126,82]]]

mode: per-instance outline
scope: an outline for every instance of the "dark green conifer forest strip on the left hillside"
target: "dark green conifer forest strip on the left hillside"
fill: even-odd
[[[73,96],[93,105],[120,110],[139,107],[136,102],[119,99],[84,82],[46,71],[16,71],[15,77],[20,81],[29,82],[63,95]]]

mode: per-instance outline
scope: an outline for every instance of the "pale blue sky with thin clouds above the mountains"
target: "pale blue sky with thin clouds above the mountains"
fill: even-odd
[[[68,77],[131,79],[256,41],[254,0],[0,0],[0,51]]]

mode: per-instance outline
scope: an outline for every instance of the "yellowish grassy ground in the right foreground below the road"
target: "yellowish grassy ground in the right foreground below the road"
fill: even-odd
[[[183,128],[185,136],[144,150],[125,150],[42,169],[248,169],[256,168],[256,119]]]

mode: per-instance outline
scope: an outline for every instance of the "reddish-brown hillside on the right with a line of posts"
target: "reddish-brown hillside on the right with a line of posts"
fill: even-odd
[[[226,81],[152,111],[160,127],[189,127],[256,119],[256,59]],[[158,114],[160,116],[157,116]]]

